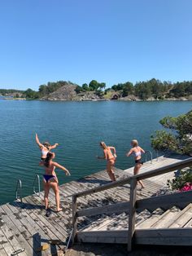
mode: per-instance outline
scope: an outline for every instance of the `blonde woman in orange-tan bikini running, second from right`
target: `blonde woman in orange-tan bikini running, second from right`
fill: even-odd
[[[98,157],[98,159],[107,160],[107,173],[111,181],[116,181],[116,176],[114,174],[114,171],[112,170],[112,167],[116,163],[116,148],[107,146],[106,143],[104,143],[103,141],[100,142],[100,146],[103,148],[103,157]],[[113,151],[113,153],[111,152],[111,150]]]

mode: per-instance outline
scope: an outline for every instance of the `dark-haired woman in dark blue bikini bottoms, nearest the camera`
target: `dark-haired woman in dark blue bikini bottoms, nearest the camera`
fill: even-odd
[[[44,201],[46,206],[47,217],[49,217],[50,215],[49,200],[48,200],[50,188],[52,188],[53,191],[55,192],[55,202],[56,202],[57,212],[63,210],[62,208],[60,208],[60,196],[59,196],[59,184],[58,184],[59,182],[55,174],[55,168],[64,170],[66,175],[71,175],[64,166],[59,165],[55,161],[52,161],[54,158],[55,158],[55,153],[48,152],[46,154],[46,159],[44,161],[41,161],[40,163],[40,166],[44,166],[46,170],[46,173],[43,175],[43,178],[44,178],[43,184],[44,184],[44,190],[45,190]]]

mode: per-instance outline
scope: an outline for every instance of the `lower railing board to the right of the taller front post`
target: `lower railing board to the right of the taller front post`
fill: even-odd
[[[150,198],[140,199],[136,201],[137,210],[155,210],[159,207],[168,209],[173,205],[181,206],[192,202],[192,191],[177,192],[175,194],[154,196]]]

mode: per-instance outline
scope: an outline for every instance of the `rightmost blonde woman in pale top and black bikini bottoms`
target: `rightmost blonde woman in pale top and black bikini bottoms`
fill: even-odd
[[[129,157],[130,155],[133,155],[133,157],[135,159],[135,167],[134,167],[134,170],[133,170],[133,174],[136,175],[136,174],[138,174],[140,168],[143,165],[142,153],[145,153],[145,151],[141,147],[138,146],[137,139],[133,139],[131,141],[131,145],[132,145],[133,148],[131,148],[129,150],[129,152],[126,154],[126,156]],[[139,180],[138,183],[141,184],[142,188],[145,188],[143,183],[142,183],[142,180]]]

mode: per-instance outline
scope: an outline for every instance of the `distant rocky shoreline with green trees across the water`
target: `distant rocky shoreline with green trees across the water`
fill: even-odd
[[[41,100],[72,100],[72,101],[154,101],[154,100],[191,100],[192,82],[161,82],[152,78],[146,82],[118,83],[106,89],[105,82],[92,80],[89,85],[79,86],[73,82],[48,82],[35,91],[0,89],[3,99],[41,99]]]

